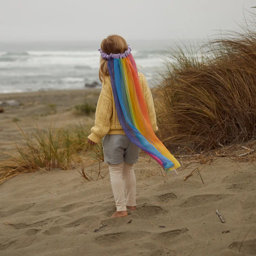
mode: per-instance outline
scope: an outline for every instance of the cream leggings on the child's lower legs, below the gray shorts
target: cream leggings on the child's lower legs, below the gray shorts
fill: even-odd
[[[126,211],[126,206],[136,205],[134,164],[110,164],[110,181],[117,211]]]

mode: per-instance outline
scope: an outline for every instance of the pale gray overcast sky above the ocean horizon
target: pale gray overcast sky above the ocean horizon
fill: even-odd
[[[0,41],[207,38],[237,30],[252,6],[256,0],[0,0]]]

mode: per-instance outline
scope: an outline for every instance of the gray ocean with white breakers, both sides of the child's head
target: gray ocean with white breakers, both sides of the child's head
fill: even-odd
[[[173,42],[130,43],[150,87],[160,81]],[[0,43],[0,93],[83,89],[98,79],[100,41]]]

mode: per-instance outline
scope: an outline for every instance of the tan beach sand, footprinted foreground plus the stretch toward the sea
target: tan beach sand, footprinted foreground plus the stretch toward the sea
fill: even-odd
[[[49,95],[54,99],[55,93]],[[66,93],[57,94],[59,101],[63,99],[60,94]],[[17,96],[18,100],[24,95]],[[30,101],[38,96],[29,95]],[[37,123],[58,120],[56,125],[61,126],[85,118],[65,110],[85,95],[74,92],[75,97],[69,103],[66,100],[57,113],[38,117]],[[3,113],[1,148],[12,149],[6,137],[18,138],[17,129],[9,122],[15,115],[25,129],[34,125],[35,116],[28,112],[48,104],[36,101],[38,105],[9,108]],[[24,116],[23,111],[27,111]],[[103,178],[91,182],[83,179],[79,167],[20,174],[0,184],[0,255],[256,255],[255,162],[214,157],[207,164],[199,164],[185,158],[183,165],[186,167],[179,175],[164,174],[142,153],[135,165],[137,209],[114,219],[110,218],[115,205],[104,163]],[[200,175],[195,172],[184,181],[196,167]],[[85,172],[91,171],[97,174],[98,166],[85,168]]]

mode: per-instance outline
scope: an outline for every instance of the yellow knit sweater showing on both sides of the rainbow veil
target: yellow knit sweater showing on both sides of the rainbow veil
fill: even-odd
[[[146,100],[151,125],[153,131],[156,132],[158,127],[152,94],[147,85],[144,74],[138,73],[138,75],[142,92]],[[106,134],[125,134],[118,120],[110,76],[107,76],[105,81],[102,83],[95,113],[95,126],[92,127],[91,134],[88,136],[88,138],[95,143],[99,143]]]

